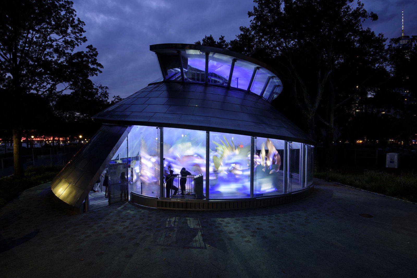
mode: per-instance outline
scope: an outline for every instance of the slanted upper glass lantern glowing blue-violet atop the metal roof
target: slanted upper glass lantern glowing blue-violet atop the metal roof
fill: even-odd
[[[233,87],[260,95],[269,102],[282,91],[282,82],[276,73],[261,62],[254,59],[249,61],[249,57],[236,52],[198,45],[181,45],[178,49],[164,47],[151,46],[151,50],[157,54],[162,72],[161,79],[157,81]]]

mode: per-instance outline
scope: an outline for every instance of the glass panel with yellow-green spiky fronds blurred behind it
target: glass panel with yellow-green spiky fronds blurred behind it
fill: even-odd
[[[251,137],[210,132],[209,199],[250,197]]]

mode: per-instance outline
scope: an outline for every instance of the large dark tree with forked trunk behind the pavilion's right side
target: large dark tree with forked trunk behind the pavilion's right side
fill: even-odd
[[[320,124],[325,149],[331,149],[337,116],[352,111],[356,99],[367,97],[385,74],[385,39],[362,27],[377,15],[354,0],[254,2],[250,26],[240,28],[230,49],[269,61],[304,115],[310,137],[320,139]]]

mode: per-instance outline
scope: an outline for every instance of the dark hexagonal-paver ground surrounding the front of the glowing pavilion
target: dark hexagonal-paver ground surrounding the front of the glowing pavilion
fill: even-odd
[[[314,182],[269,208],[83,214],[40,185],[0,210],[0,277],[415,277],[416,204]]]

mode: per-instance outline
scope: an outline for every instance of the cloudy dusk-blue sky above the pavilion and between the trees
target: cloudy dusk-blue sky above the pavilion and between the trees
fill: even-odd
[[[130,94],[161,77],[149,45],[191,43],[205,35],[233,40],[240,26],[249,26],[252,0],[73,0],[77,16],[85,22],[87,44],[98,50],[103,73],[95,84],[109,87],[110,97]],[[376,12],[376,22],[365,22],[376,33],[392,38],[401,35],[404,10],[405,35],[417,35],[417,1],[363,0],[365,9]]]

